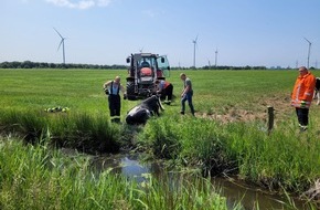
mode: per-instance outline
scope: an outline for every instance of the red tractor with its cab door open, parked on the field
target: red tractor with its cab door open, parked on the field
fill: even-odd
[[[170,66],[166,55],[137,53],[127,57],[130,63],[127,77],[128,99],[145,98],[156,92],[156,81],[169,76]]]

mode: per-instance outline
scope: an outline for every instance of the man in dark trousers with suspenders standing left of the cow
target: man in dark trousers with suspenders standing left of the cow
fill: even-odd
[[[120,84],[120,76],[116,76],[114,81],[108,81],[104,84],[104,90],[108,93],[108,103],[110,118],[113,123],[120,123],[121,98],[119,92],[124,94],[124,99],[127,98],[125,87]]]

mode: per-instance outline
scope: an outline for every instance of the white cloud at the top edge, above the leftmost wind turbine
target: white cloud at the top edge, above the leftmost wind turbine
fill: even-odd
[[[72,9],[89,9],[95,6],[107,7],[111,0],[45,0],[49,3],[53,3],[58,7],[66,7]]]

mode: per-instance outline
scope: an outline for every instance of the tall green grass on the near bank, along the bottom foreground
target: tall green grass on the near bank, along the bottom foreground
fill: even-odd
[[[7,209],[227,209],[209,181],[179,186],[149,177],[141,185],[89,168],[88,156],[66,156],[46,140],[0,139],[0,208]],[[241,209],[237,206],[234,209]]]

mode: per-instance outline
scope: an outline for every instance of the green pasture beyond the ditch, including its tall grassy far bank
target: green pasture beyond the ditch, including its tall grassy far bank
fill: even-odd
[[[116,75],[125,84],[125,70],[0,70],[1,130],[8,133],[10,125],[23,122],[21,125],[28,127],[24,130],[46,130],[51,133],[47,136],[68,146],[82,139],[86,147],[95,146],[96,138],[126,138],[120,146],[134,140],[156,158],[195,166],[204,175],[234,175],[270,190],[301,193],[319,178],[320,106],[312,104],[309,129],[299,133],[295,109],[290,107],[297,71],[184,71],[193,82],[195,117],[188,106],[186,115],[179,114],[181,72],[172,71],[168,77],[174,86],[173,103],[164,106],[161,117],[152,118],[134,135],[126,125],[108,123],[103,91],[104,82]],[[121,103],[124,122],[127,111],[138,102]],[[266,132],[268,105],[275,108],[270,135]],[[56,106],[70,111],[44,112]],[[92,136],[84,138],[88,133]],[[79,137],[66,144],[75,134]],[[106,144],[97,147],[102,146]]]

